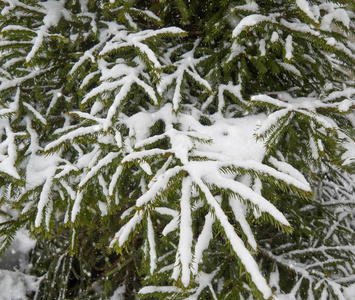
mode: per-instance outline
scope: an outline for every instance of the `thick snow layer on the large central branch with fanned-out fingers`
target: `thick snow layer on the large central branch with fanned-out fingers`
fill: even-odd
[[[238,86],[229,87],[229,85],[225,85],[223,90],[227,88],[234,94],[240,94],[240,87]],[[220,97],[222,96],[220,95]],[[289,105],[273,98],[270,99],[272,99],[270,101],[276,101],[277,104],[282,103],[286,107]],[[144,161],[145,157],[160,156],[161,154],[170,155],[160,170],[155,171],[153,168],[150,169],[152,175],[155,175],[147,185],[148,190],[142,190],[143,194],[136,200],[136,208],[148,209],[150,211],[154,207],[156,199],[160,199],[159,196],[167,188],[170,180],[176,178],[180,172],[184,172],[187,176],[182,180],[180,215],[177,215],[178,212],[175,210],[162,207],[163,204],[160,202],[159,206],[156,207],[157,213],[172,217],[171,221],[165,225],[162,234],[166,236],[173,231],[180,232],[175,263],[169,267],[169,270],[173,269],[172,278],[177,280],[181,276],[182,284],[188,286],[191,273],[193,275],[200,274],[198,266],[203,252],[208,248],[212,238],[213,223],[217,220],[224,228],[226,238],[242,260],[247,272],[252,275],[254,282],[258,282],[258,289],[265,296],[268,296],[270,295],[270,289],[258,270],[256,262],[245,247],[244,242],[235,232],[234,227],[229,223],[228,217],[221,208],[218,197],[214,197],[211,194],[209,187],[216,185],[219,188],[232,191],[232,193],[235,193],[245,201],[250,201],[258,211],[270,214],[275,220],[286,226],[289,226],[289,223],[283,214],[261,196],[261,184],[260,186],[256,186],[254,191],[254,187],[250,187],[250,182],[237,182],[234,178],[235,174],[223,173],[221,170],[226,167],[243,168],[270,175],[306,191],[309,191],[310,187],[295,169],[287,168],[287,166],[284,166],[282,169],[280,166],[280,171],[278,171],[262,164],[265,149],[263,148],[263,143],[257,142],[253,134],[257,125],[265,122],[265,115],[229,119],[224,118],[220,113],[216,113],[210,116],[212,125],[204,126],[199,122],[200,114],[200,111],[193,108],[186,112],[181,111],[178,114],[174,114],[173,105],[166,104],[158,110],[141,111],[131,117],[121,115],[120,121],[129,128],[129,136],[134,141],[134,143],[130,142],[132,148],[123,158],[122,163],[134,160],[138,160],[139,163],[142,160]],[[149,128],[158,120],[163,121],[165,124],[165,132],[156,136],[150,136]],[[175,129],[173,126],[174,123],[181,125],[178,129]],[[170,141],[170,148],[150,148],[151,144],[163,139]],[[202,143],[195,139],[208,142]],[[145,149],[146,146],[149,146],[148,150]],[[182,165],[174,166],[174,159],[172,157],[174,159],[179,158]],[[207,161],[195,160],[191,159],[191,157],[201,157],[207,159]],[[287,172],[284,172],[285,170]],[[198,208],[195,206],[193,208],[193,205],[190,203],[192,201],[191,195],[194,193],[191,188],[191,180],[194,186],[198,186],[202,193],[205,194],[207,204],[210,206],[211,211],[213,211],[213,216],[212,214],[207,214],[206,216],[205,225],[196,241],[194,252],[191,249],[193,245],[191,224],[193,211]],[[257,244],[248,225],[246,212],[240,199],[232,199],[230,206],[234,212],[236,221],[240,223],[247,236],[249,244],[256,249]],[[115,244],[115,241],[118,241],[119,246],[122,246],[127,241],[129,234],[142,220],[142,215],[136,213],[116,234],[116,237],[111,242],[111,246]],[[154,227],[153,224],[151,225]],[[149,244],[151,243],[148,242],[147,245]],[[192,259],[192,253],[194,253],[196,260]],[[190,268],[191,264],[193,269]]]

